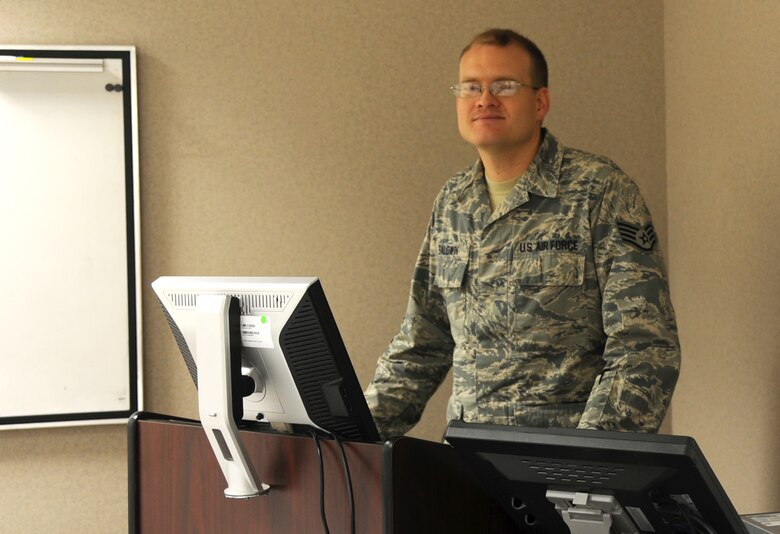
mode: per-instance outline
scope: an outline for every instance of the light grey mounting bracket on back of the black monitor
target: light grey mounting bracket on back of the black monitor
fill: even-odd
[[[613,495],[548,490],[572,534],[639,534]]]

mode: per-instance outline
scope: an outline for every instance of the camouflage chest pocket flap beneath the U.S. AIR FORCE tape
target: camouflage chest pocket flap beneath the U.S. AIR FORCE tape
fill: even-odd
[[[585,280],[585,256],[576,252],[521,254],[512,261],[520,286],[580,286]]]

